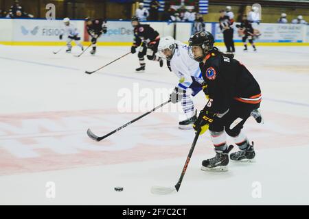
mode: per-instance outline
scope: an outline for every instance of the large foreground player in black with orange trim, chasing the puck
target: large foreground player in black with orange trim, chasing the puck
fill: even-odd
[[[253,159],[255,151],[242,132],[251,112],[258,112],[262,100],[260,86],[247,68],[214,47],[214,36],[198,32],[189,40],[189,55],[200,63],[208,101],[194,123],[194,129],[203,134],[209,129],[216,156],[202,163],[202,170],[227,170],[229,151],[226,134],[233,138],[240,151],[231,153],[230,159]],[[257,120],[258,121],[258,120]]]

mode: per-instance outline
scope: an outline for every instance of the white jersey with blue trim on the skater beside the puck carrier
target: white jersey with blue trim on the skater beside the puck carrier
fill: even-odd
[[[177,42],[177,48],[174,51],[170,67],[173,73],[179,77],[178,88],[186,90],[189,88],[193,80],[198,83],[203,83],[203,77],[198,62],[193,60],[187,53],[188,47],[186,44]]]

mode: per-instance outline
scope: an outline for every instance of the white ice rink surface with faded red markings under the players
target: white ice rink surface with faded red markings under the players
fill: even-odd
[[[244,127],[255,142],[255,162],[230,162],[228,172],[201,171],[203,159],[214,156],[206,133],[181,189],[167,196],[150,188],[178,181],[194,138],[194,131],[178,129],[179,113],[171,105],[102,142],[86,131],[104,135],[146,112],[139,107],[146,94],[174,88],[176,76],[148,60],[146,71],[135,73],[137,54],[87,75],[84,70],[130,48],[98,47],[97,55],[81,57],[73,56],[77,47],[54,55],[59,48],[0,45],[1,205],[309,204],[309,47],[258,47],[257,53],[236,47],[236,59],[262,88],[264,124],[249,118]],[[119,112],[123,91],[132,92],[133,112]],[[202,92],[194,103],[203,108]],[[52,188],[56,196],[48,198]]]

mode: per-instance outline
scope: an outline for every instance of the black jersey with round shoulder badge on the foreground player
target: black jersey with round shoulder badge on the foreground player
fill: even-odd
[[[260,103],[262,96],[258,82],[238,60],[214,51],[204,62],[200,63],[200,68],[207,83],[205,93],[209,96],[205,110],[222,114],[227,112],[232,101]]]

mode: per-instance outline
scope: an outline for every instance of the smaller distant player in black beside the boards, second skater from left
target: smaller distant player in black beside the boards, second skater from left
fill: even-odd
[[[94,55],[97,49],[98,38],[100,38],[100,36],[102,34],[105,34],[107,31],[106,21],[104,21],[103,19],[92,20],[89,17],[87,17],[85,21],[86,21],[87,32],[91,36],[92,50],[90,51],[90,53]]]

